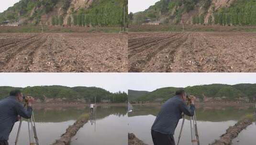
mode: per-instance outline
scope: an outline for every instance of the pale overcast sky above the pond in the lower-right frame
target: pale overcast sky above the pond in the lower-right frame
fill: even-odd
[[[136,73],[129,77],[128,88],[140,91],[212,83],[256,83],[256,73]]]

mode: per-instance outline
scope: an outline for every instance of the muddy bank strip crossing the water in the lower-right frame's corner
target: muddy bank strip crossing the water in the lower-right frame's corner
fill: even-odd
[[[226,130],[226,133],[223,134],[219,140],[216,140],[211,145],[231,145],[232,140],[236,138],[238,134],[250,124],[252,124],[252,119],[244,118],[243,120],[236,123],[234,126],[229,127]]]

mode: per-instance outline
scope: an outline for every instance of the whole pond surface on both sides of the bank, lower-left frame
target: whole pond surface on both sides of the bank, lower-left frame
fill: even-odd
[[[66,132],[67,127],[74,124],[82,114],[90,114],[89,107],[34,108],[39,144],[51,145],[54,143],[56,139],[59,139]],[[104,145],[117,145],[113,143],[115,141],[120,143],[123,140],[126,140],[127,143],[127,106],[98,106],[96,115],[91,117],[94,117],[90,118],[93,125],[89,120],[83,128],[80,128],[77,136],[74,137],[75,139],[72,139],[71,145],[100,145],[98,144],[99,139],[105,143]],[[95,118],[96,127],[94,125]],[[115,128],[110,127],[115,125],[117,125]],[[19,122],[13,127],[9,138],[10,145],[14,145],[18,126]],[[126,133],[121,134],[121,130],[123,132],[125,127]],[[115,134],[118,135],[118,138],[113,140],[112,138]],[[95,138],[98,138],[98,140]],[[18,145],[29,145],[26,119],[22,122]]]

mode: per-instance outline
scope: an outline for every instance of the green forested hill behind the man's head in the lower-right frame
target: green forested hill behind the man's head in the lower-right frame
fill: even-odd
[[[180,88],[167,87],[156,89],[153,92],[142,94],[138,93],[137,98],[132,101],[166,101],[170,97],[175,95],[175,92]],[[200,100],[244,100],[252,101],[256,100],[256,84],[210,84],[210,85],[198,85],[189,86],[184,88],[190,95],[195,95],[200,98]],[[134,93],[133,93],[134,94]],[[130,94],[128,93],[128,98],[130,100]]]

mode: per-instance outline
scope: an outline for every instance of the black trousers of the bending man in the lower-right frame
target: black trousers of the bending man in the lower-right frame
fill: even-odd
[[[175,145],[173,135],[165,135],[151,130],[154,145]]]

